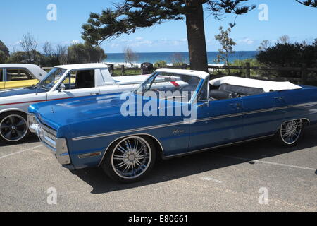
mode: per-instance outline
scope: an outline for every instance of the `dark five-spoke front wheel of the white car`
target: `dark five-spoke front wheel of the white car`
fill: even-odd
[[[0,135],[5,141],[20,141],[26,134],[27,121],[18,114],[10,114],[0,122]]]

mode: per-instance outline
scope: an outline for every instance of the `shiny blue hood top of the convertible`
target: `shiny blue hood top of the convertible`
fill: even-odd
[[[37,114],[42,123],[58,130],[61,126],[78,121],[120,114],[121,105],[125,101],[121,100],[118,94],[79,97],[72,100],[56,100],[31,105],[29,112]]]

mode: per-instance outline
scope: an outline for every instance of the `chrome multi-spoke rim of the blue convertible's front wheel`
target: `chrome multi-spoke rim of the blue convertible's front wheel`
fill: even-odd
[[[135,179],[147,172],[151,159],[149,143],[139,136],[130,136],[120,141],[113,149],[111,166],[120,178]]]

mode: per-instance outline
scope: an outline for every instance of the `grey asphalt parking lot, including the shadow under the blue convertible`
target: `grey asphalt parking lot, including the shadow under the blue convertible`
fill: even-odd
[[[142,182],[116,184],[64,169],[33,137],[0,145],[0,211],[316,211],[316,138],[311,127],[293,148],[255,141],[159,161]]]

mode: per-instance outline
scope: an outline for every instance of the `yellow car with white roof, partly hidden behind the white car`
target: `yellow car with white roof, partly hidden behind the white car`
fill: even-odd
[[[0,90],[32,86],[45,76],[46,71],[35,64],[0,64]]]

